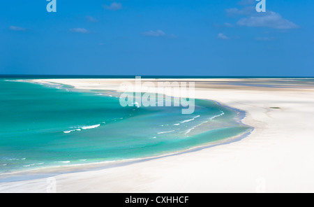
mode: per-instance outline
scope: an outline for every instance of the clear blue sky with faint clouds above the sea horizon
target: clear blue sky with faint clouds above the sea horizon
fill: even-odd
[[[3,1],[0,73],[314,76],[314,1]]]

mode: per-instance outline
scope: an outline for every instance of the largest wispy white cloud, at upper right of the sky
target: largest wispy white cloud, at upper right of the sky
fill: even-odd
[[[296,29],[299,27],[297,24],[285,20],[280,14],[273,11],[243,18],[237,24],[246,27],[269,27],[273,29]]]

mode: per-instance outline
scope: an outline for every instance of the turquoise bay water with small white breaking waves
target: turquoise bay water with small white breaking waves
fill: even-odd
[[[0,173],[162,155],[248,131],[214,101],[122,107],[119,94],[0,79]]]

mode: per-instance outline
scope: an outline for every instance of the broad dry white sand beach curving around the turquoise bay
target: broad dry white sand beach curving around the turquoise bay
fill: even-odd
[[[119,90],[121,82],[134,80],[36,81]],[[195,82],[195,98],[246,111],[242,121],[254,127],[252,133],[226,145],[125,166],[0,183],[0,192],[50,192],[51,180],[55,192],[314,192],[313,85],[287,80],[278,80],[280,87],[232,84],[241,79],[188,81]]]

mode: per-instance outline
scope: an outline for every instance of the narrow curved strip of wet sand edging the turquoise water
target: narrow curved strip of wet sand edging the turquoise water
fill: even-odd
[[[17,82],[27,82],[27,83],[38,83],[38,80],[14,80]],[[62,83],[51,83],[51,82],[45,82],[42,83],[40,82],[39,84],[43,85],[61,85],[63,86],[71,86],[75,88],[75,85],[66,85]],[[57,87],[57,88],[61,88]],[[63,88],[64,89],[64,88]],[[83,92],[90,92],[89,90],[82,90]],[[116,90],[116,92],[118,92]],[[63,173],[77,173],[77,172],[83,172],[83,171],[94,171],[94,170],[102,170],[102,169],[108,169],[108,168],[113,168],[117,166],[126,166],[129,164],[134,164],[138,162],[147,162],[149,160],[153,159],[160,159],[163,157],[170,157],[170,156],[175,156],[175,155],[182,155],[184,153],[189,153],[189,152],[195,152],[198,150],[202,150],[205,148],[212,148],[217,145],[225,145],[228,143],[232,143],[234,141],[240,141],[242,138],[245,138],[248,136],[248,134],[251,134],[253,131],[253,127],[244,124],[242,120],[246,116],[246,112],[239,110],[237,108],[232,108],[230,106],[226,106],[225,104],[219,103],[218,101],[210,100],[210,99],[202,99],[202,100],[207,100],[207,101],[213,101],[214,103],[218,104],[219,106],[223,106],[224,108],[228,108],[229,110],[235,111],[237,113],[237,118],[236,122],[239,122],[239,124],[242,124],[246,127],[249,127],[248,131],[245,131],[244,133],[241,133],[236,136],[228,137],[228,138],[223,138],[222,140],[219,141],[211,141],[209,143],[204,143],[201,145],[195,145],[191,148],[187,148],[184,150],[177,150],[173,152],[166,152],[164,154],[156,155],[156,156],[147,156],[147,157],[138,157],[138,158],[130,158],[130,159],[119,159],[119,160],[112,160],[112,161],[101,161],[101,162],[90,162],[90,163],[85,163],[85,164],[68,164],[68,165],[59,165],[59,166],[44,166],[43,168],[36,168],[36,169],[29,169],[29,170],[22,170],[22,171],[13,171],[9,173],[1,173],[0,177],[0,183],[6,183],[6,182],[16,182],[16,181],[24,181],[24,180],[33,180],[33,179],[38,179],[38,178],[48,178],[51,176],[57,176]],[[3,178],[4,177],[4,178]]]

